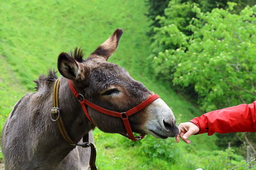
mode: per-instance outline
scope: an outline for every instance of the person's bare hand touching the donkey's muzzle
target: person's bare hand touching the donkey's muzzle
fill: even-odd
[[[189,141],[189,136],[191,136],[192,134],[196,134],[199,132],[199,127],[195,124],[193,124],[192,122],[185,122],[185,123],[181,123],[179,125],[179,134],[175,137],[177,143],[179,143],[180,138],[186,142],[186,143],[191,143],[191,141]]]

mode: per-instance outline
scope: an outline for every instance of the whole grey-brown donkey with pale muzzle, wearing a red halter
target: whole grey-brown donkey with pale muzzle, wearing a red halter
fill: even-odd
[[[70,138],[76,143],[88,133],[93,141],[91,130],[95,127],[109,133],[126,134],[127,131],[120,118],[86,106],[93,123],[90,122],[68,87],[68,81],[88,101],[120,113],[154,94],[133,80],[124,68],[107,62],[121,36],[122,29],[116,29],[87,59],[83,59],[83,51],[77,48],[71,53],[60,53],[58,57],[61,117]],[[68,145],[56,122],[51,120],[52,89],[56,79],[54,71],[49,71],[48,76],[40,76],[35,81],[36,92],[22,97],[7,118],[2,133],[5,169],[88,168],[90,150]],[[156,138],[174,137],[178,133],[172,110],[160,98],[131,115],[129,123],[132,132],[151,134]]]

